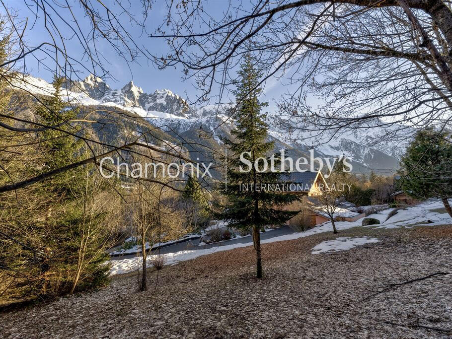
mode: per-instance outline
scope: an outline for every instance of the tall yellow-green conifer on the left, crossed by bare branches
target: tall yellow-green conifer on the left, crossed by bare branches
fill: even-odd
[[[62,79],[55,77],[54,92],[43,97],[36,109],[43,124],[57,127],[40,135],[44,172],[78,161],[85,153],[83,142],[70,135],[81,136],[82,131],[71,124],[78,111],[64,102],[61,84]],[[50,277],[60,279],[58,293],[73,293],[80,281],[86,288],[96,287],[108,277],[108,256],[98,251],[108,235],[100,232],[105,213],[96,207],[95,195],[102,184],[95,182],[95,175],[94,167],[85,165],[52,177],[42,187],[48,202],[44,242],[54,256],[47,269]],[[95,233],[96,239],[87,238]]]

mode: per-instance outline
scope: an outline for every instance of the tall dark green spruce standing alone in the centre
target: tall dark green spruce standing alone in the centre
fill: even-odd
[[[268,126],[265,123],[266,114],[261,110],[267,103],[259,102],[258,98],[262,92],[262,88],[258,87],[261,72],[254,68],[251,55],[245,56],[238,75],[239,80],[233,92],[237,103],[235,111],[232,112],[235,126],[231,131],[235,139],[223,139],[228,153],[232,155],[226,159],[227,182],[223,189],[226,203],[219,217],[228,221],[231,227],[252,229],[256,251],[256,275],[261,278],[260,230],[266,225],[284,224],[295,216],[297,211],[283,210],[282,207],[298,200],[298,197],[260,189],[262,184],[281,182],[281,173],[272,173],[269,169],[263,168],[264,160],[268,163],[271,161],[269,154],[273,151],[274,143],[266,141]],[[249,160],[253,166],[244,165],[240,161],[240,155]],[[254,166],[256,160],[259,160],[258,168]],[[275,157],[273,161],[277,165]],[[246,185],[248,190],[243,189]]]

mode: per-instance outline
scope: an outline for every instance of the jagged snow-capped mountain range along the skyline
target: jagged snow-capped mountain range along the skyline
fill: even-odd
[[[25,76],[16,87],[35,95],[49,95],[53,87],[45,80]],[[101,78],[92,74],[82,81],[67,82],[62,95],[73,105],[115,107],[126,112],[146,118],[152,125],[160,126],[164,132],[175,138],[198,141],[200,131],[212,138],[220,146],[219,136],[226,136],[233,124],[224,108],[217,105],[194,107],[187,104],[181,96],[168,89],[157,89],[153,93],[145,93],[143,89],[130,81],[120,89],[112,89]],[[358,130],[328,131],[319,137],[313,137],[309,128],[300,129],[291,137],[287,133],[272,127],[269,135],[294,151],[305,152],[314,148],[321,157],[337,157],[345,154],[354,161],[354,171],[369,172],[371,169],[389,173],[398,168],[401,155],[404,153],[412,135],[410,129],[400,132],[400,126],[383,129],[377,125],[369,125]],[[398,133],[398,135],[397,135]],[[405,133],[407,136],[403,140]],[[397,138],[393,136],[397,135]]]

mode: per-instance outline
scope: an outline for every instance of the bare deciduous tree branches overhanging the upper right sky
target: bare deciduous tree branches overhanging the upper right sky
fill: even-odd
[[[325,142],[341,130],[375,126],[395,127],[386,137],[406,137],[408,126],[450,126],[449,1],[229,2],[226,15],[204,4],[172,6],[152,35],[170,47],[155,62],[196,79],[198,100],[227,101],[234,66],[251,51],[266,70],[259,85],[286,79],[279,123],[294,139]],[[317,107],[306,96],[317,97]]]

